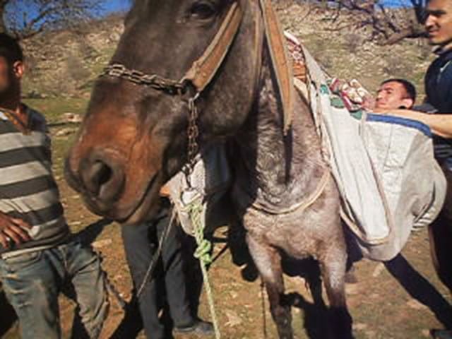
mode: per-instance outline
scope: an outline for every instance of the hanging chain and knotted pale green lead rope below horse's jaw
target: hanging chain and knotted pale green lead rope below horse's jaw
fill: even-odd
[[[193,173],[194,165],[196,164],[196,154],[198,153],[198,141],[196,140],[199,135],[197,126],[198,109],[196,107],[196,99],[199,93],[189,100],[189,127],[188,127],[188,166],[186,167],[185,176],[186,181],[189,183],[189,189],[193,189],[190,182],[190,174]],[[189,218],[194,228],[194,237],[196,240],[196,251],[194,257],[199,260],[201,266],[201,272],[203,273],[204,286],[206,288],[206,295],[210,309],[210,317],[212,318],[213,328],[215,330],[215,339],[221,338],[220,328],[218,326],[217,314],[215,311],[215,303],[213,301],[213,291],[210,286],[210,281],[207,272],[207,266],[212,263],[212,256],[210,256],[210,250],[212,249],[212,243],[204,237],[204,230],[206,229],[206,222],[203,218],[203,199],[196,199],[189,203],[187,210]]]

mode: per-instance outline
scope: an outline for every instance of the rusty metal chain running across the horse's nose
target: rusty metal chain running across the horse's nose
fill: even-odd
[[[111,64],[105,67],[100,76],[123,78],[137,85],[146,85],[155,90],[161,90],[169,95],[182,95],[186,91],[186,84],[180,81],[169,80],[156,74],[146,74],[136,69],[127,69],[122,64]]]

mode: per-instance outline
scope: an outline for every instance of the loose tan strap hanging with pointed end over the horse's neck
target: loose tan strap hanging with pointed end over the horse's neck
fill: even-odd
[[[285,37],[270,0],[259,0],[266,32],[271,66],[278,83],[278,94],[283,107],[284,133],[287,134],[293,117],[295,90],[292,61],[287,52]]]

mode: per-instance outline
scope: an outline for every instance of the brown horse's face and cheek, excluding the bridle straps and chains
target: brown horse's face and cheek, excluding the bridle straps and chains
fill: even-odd
[[[179,80],[208,47],[232,2],[135,1],[111,63]],[[252,11],[246,12],[229,54],[198,100],[201,144],[234,134],[250,110],[257,32]],[[110,76],[97,81],[66,159],[66,179],[90,210],[125,223],[152,217],[162,184],[186,162],[191,92],[168,95]]]

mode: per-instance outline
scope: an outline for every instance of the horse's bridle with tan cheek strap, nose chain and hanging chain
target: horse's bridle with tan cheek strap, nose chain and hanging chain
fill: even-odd
[[[218,69],[220,69],[222,61],[225,59],[227,52],[229,52],[234,37],[239,31],[243,16],[244,9],[238,1],[234,1],[222,21],[220,29],[215,34],[215,37],[213,37],[212,42],[210,42],[201,57],[194,61],[189,71],[179,81],[163,78],[157,74],[147,74],[135,69],[128,69],[123,64],[110,64],[105,67],[101,74],[101,76],[121,78],[137,85],[145,85],[167,95],[182,96],[187,93],[190,86],[195,89],[194,96],[189,99],[189,167],[194,166],[194,159],[196,153],[198,153],[198,143],[196,140],[198,137],[198,109],[196,107],[196,100],[210,81],[212,81]]]

